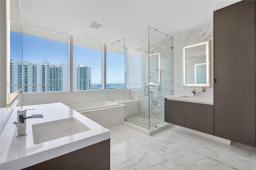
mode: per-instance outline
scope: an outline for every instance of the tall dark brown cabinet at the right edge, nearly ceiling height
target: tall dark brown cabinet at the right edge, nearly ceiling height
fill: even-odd
[[[255,1],[214,11],[215,136],[255,143]]]

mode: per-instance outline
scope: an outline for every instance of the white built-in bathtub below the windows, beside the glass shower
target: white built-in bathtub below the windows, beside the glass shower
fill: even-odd
[[[121,103],[100,101],[68,105],[68,107],[105,128],[121,125],[124,121],[124,105]]]

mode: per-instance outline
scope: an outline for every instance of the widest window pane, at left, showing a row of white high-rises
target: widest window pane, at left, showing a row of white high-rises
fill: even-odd
[[[22,27],[22,92],[68,91],[68,35]]]

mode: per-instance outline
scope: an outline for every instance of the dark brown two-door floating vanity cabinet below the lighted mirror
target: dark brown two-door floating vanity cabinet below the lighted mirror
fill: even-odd
[[[213,105],[165,99],[164,121],[213,134]]]

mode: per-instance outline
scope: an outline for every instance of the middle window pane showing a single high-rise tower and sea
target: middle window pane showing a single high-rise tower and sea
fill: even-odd
[[[102,89],[102,44],[73,37],[73,90]]]

